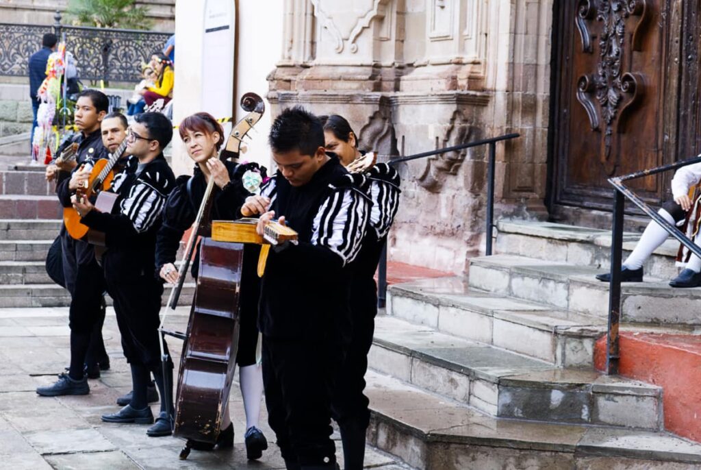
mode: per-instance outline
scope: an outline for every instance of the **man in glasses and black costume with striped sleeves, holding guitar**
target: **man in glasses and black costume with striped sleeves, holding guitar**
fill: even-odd
[[[161,412],[148,429],[149,436],[172,433],[172,401],[165,400],[172,396],[165,393],[166,384],[172,384],[172,363],[164,372],[158,338],[163,283],[154,277],[156,233],[165,199],[175,187],[175,175],[163,156],[171,138],[172,124],[163,114],[139,114],[127,137],[127,166],[116,175],[110,189],[118,194],[112,212],[100,212],[90,201],[72,198],[81,222],[105,234],[104,278],[114,300],[122,347],[132,374],[130,403],[116,413],[102,415],[102,421],[154,422],[147,401],[150,371],[161,395]],[[163,347],[167,353],[165,341]]]

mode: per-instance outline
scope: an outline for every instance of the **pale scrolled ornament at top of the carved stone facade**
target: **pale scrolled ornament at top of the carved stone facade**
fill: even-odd
[[[336,0],[311,0],[314,6],[314,15],[319,20],[322,27],[326,28],[331,35],[335,46],[334,51],[340,54],[343,52],[343,45],[349,43],[351,53],[358,52],[358,44],[355,41],[360,36],[363,29],[370,26],[374,18],[383,18],[385,6],[389,0],[365,0],[354,2],[341,2]],[[355,4],[364,4],[362,13],[358,15],[357,10],[348,9]]]

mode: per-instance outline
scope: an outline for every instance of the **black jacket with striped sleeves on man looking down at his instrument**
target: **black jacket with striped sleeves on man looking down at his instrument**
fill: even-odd
[[[299,244],[283,243],[268,256],[259,306],[264,335],[348,341],[348,264],[360,251],[369,217],[362,184],[362,176],[349,175],[332,156],[302,187],[279,173],[264,187],[275,215],[299,233]]]

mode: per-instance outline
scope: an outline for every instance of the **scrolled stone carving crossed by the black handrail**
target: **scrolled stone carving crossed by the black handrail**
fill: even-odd
[[[446,130],[443,139],[438,142],[440,147],[453,147],[464,144],[477,138],[477,130],[470,126],[470,123],[459,110],[453,112],[450,125]],[[445,152],[426,159],[426,167],[418,177],[418,184],[430,192],[440,192],[447,175],[455,175],[465,160],[468,150],[462,149],[454,152]]]

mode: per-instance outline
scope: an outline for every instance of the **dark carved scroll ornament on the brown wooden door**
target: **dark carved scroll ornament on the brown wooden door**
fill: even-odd
[[[641,33],[647,16],[646,0],[579,0],[576,25],[582,39],[582,50],[593,53],[590,27],[596,20],[599,30],[597,72],[584,74],[577,80],[577,100],[584,107],[592,130],[604,133],[601,142],[601,163],[612,175],[618,161],[612,161],[613,136],[620,132],[627,118],[626,110],[639,102],[644,93],[644,77],[624,72],[623,52],[641,48]],[[626,43],[628,18],[635,17],[632,40]]]

